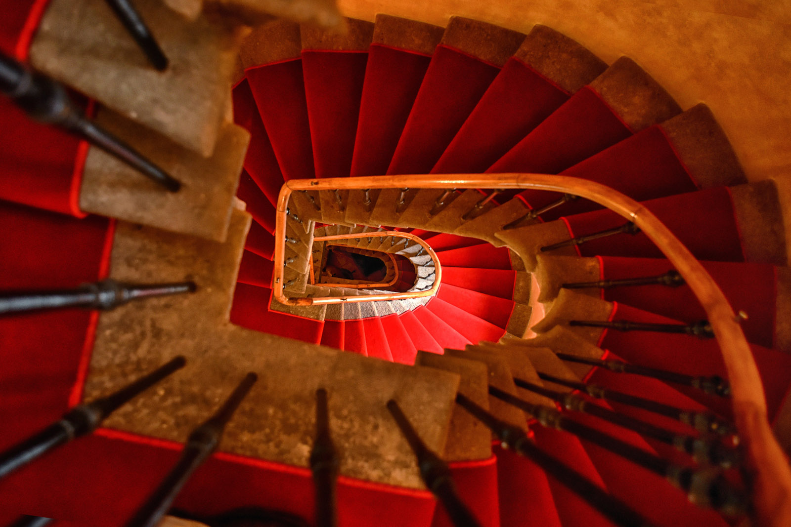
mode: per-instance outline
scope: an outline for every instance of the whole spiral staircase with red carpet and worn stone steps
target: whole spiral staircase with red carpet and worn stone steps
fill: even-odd
[[[756,467],[750,446],[763,443],[739,444],[732,370],[698,322],[707,303],[691,280],[636,228],[638,213],[512,177],[600,183],[667,226],[744,315],[766,417],[788,448],[782,193],[747,182],[708,107],[683,111],[630,58],[607,64],[543,25],[370,22],[324,2],[265,2],[290,20],[245,2],[137,3],[171,61],[164,73],[102,2],[0,2],[6,55],[72,88],[182,183],[167,193],[2,98],[0,286],[197,289],[112,311],[3,315],[0,450],[173,356],[187,367],[0,480],[0,522],[123,525],[191,428],[254,371],[221,451],[173,514],[215,525],[259,507],[297,521],[279,525],[312,523],[313,393],[324,388],[339,525],[453,525],[391,399],[480,525],[782,525],[784,487],[777,498]],[[380,258],[385,278],[332,276],[333,249]],[[457,393],[551,461],[493,441]],[[596,491],[623,514],[603,514]]]

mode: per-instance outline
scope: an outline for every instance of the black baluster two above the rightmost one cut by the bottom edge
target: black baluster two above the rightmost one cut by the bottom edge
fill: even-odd
[[[514,378],[513,382],[520,388],[524,388],[524,390],[538,393],[539,395],[550,398],[552,401],[560,403],[566,409],[596,416],[609,423],[617,424],[619,427],[624,427],[640,435],[645,435],[645,437],[657,439],[657,441],[675,446],[676,449],[689,454],[699,463],[720,465],[726,469],[740,463],[739,452],[725,446],[721,442],[712,442],[708,441],[706,438],[695,438],[691,435],[676,434],[675,432],[665,430],[651,423],[646,423],[645,421],[634,419],[634,417],[625,416],[602,406],[595,405],[573,393],[556,392],[520,378]]]

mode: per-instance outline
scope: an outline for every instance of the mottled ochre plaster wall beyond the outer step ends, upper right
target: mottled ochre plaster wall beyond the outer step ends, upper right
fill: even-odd
[[[634,58],[683,109],[708,104],[751,181],[774,178],[791,233],[791,0],[339,0],[349,17],[546,24],[607,62]]]

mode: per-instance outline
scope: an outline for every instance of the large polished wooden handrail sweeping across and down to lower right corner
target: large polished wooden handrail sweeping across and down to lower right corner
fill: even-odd
[[[534,189],[574,194],[595,201],[630,220],[657,245],[687,282],[706,311],[720,345],[731,383],[736,428],[755,470],[755,510],[760,525],[791,525],[791,468],[774,438],[758,367],[744,332],[725,295],[706,269],[648,209],[608,186],[562,175],[430,174],[359,178],[290,179],[278,197],[275,229],[274,296],[282,297],[282,263],[286,243],[286,207],[295,190],[363,189]],[[433,251],[432,251],[433,253]],[[437,279],[439,275],[437,274]],[[438,284],[438,280],[437,280]],[[369,297],[373,299],[373,297]]]

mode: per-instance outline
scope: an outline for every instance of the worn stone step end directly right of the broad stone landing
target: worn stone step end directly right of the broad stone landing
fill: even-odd
[[[477,360],[457,359],[430,352],[418,352],[418,366],[452,371],[460,375],[459,393],[489,409],[489,370]],[[450,434],[442,458],[445,461],[488,459],[491,456],[491,432],[470,412],[456,405],[450,420]]]

